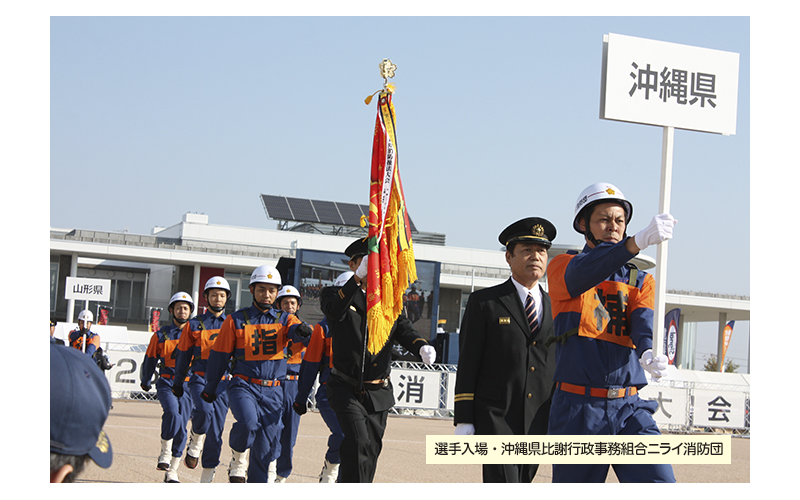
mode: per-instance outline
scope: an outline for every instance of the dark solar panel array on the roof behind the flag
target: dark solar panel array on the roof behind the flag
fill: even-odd
[[[261,201],[269,218],[275,220],[360,227],[361,216],[369,217],[369,207],[355,203],[307,200],[269,194],[262,194]],[[408,221],[411,224],[411,231],[416,232],[417,228],[411,217]]]

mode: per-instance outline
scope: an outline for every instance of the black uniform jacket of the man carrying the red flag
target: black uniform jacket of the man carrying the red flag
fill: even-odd
[[[361,380],[361,357],[364,352],[364,332],[367,330],[365,294],[353,277],[342,287],[323,288],[320,307],[331,329],[334,374],[339,371],[351,380]],[[415,354],[420,347],[428,344],[414,330],[411,322],[401,315],[395,321],[383,349],[377,354],[366,352],[363,380],[385,379],[389,376],[392,344],[395,341]],[[384,388],[367,390],[365,399],[371,401],[376,412],[388,410],[394,406],[391,383]]]

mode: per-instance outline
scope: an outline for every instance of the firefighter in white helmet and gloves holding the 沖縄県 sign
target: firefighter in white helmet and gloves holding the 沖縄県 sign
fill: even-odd
[[[630,260],[672,238],[670,214],[653,217],[634,236],[633,205],[613,184],[592,184],[578,196],[573,229],[580,253],[553,258],[548,284],[556,336],[556,391],[548,434],[660,434],[655,401],[639,398],[645,373],[659,380],[666,356],[653,356],[655,280]],[[656,324],[663,325],[663,318]],[[669,464],[615,464],[621,483],[675,482]],[[553,464],[553,482],[605,482],[608,464]]]

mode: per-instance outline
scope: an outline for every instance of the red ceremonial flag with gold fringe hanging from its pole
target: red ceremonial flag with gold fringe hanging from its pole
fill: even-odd
[[[411,228],[397,162],[392,87],[381,92],[372,143],[369,189],[367,349],[375,354],[389,339],[403,310],[403,293],[417,279]]]

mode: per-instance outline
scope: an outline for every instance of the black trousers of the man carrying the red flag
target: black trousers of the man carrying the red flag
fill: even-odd
[[[353,386],[335,375],[328,379],[327,386],[331,408],[344,434],[339,448],[339,482],[371,483],[389,410],[375,411],[369,396],[362,403]]]

